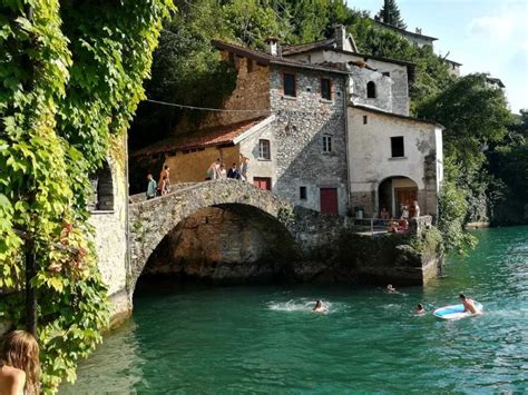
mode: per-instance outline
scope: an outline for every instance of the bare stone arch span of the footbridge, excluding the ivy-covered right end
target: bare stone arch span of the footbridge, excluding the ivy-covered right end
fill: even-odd
[[[129,207],[130,218],[130,297],[137,280],[156,248],[177,230],[179,224],[204,209],[222,209],[235,216],[246,216],[268,228],[270,235],[295,245],[289,220],[293,207],[278,196],[237,181],[207,181],[178,186],[170,195],[151,200],[135,201]],[[290,253],[293,254],[293,247]]]

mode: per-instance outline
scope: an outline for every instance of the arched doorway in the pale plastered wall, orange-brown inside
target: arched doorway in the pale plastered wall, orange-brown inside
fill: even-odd
[[[400,217],[403,206],[408,207],[412,217],[414,200],[418,200],[418,185],[408,177],[385,178],[378,188],[379,210],[387,208],[391,217]]]

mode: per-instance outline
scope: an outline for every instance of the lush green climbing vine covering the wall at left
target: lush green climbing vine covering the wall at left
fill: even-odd
[[[106,288],[90,241],[88,175],[128,129],[172,0],[4,0],[0,6],[0,318],[25,324],[25,256],[42,385],[101,339]]]

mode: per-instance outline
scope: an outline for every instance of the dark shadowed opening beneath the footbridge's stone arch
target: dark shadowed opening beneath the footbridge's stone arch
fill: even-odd
[[[276,218],[243,204],[217,205],[184,218],[162,239],[138,287],[159,279],[165,284],[284,280],[299,259],[293,236]]]

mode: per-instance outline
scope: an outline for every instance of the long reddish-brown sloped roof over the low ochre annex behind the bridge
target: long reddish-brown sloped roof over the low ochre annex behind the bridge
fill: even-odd
[[[258,117],[227,126],[209,127],[180,136],[174,136],[133,152],[131,156],[147,156],[166,151],[234,145],[235,139],[261,124],[267,117]]]

